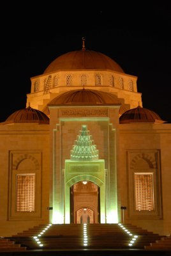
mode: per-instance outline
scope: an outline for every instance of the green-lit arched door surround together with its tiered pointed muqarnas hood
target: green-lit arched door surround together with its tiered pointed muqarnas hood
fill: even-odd
[[[70,223],[70,188],[82,180],[94,182],[100,188],[100,222],[105,223],[105,161],[98,159],[98,150],[87,125],[77,135],[70,160],[64,170],[64,221]]]

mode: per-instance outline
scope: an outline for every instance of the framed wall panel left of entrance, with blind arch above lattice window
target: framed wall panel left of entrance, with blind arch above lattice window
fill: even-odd
[[[36,158],[34,150],[28,150],[24,154],[19,152],[11,152],[15,160],[10,157],[9,218],[20,220],[20,214],[24,212],[22,218],[25,220],[28,217],[35,219],[41,216],[41,151],[37,152]]]

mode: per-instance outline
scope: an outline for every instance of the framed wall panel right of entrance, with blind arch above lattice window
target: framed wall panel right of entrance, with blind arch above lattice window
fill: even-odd
[[[161,217],[159,150],[129,150],[130,216]],[[135,217],[135,218],[137,218]],[[143,218],[143,217],[142,217]]]

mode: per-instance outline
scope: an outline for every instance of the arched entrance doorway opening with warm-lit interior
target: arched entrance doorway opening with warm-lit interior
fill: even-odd
[[[73,184],[70,199],[72,223],[100,222],[100,189],[96,184],[88,180]]]

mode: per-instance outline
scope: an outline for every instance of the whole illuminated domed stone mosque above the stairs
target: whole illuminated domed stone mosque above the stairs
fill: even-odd
[[[82,47],[31,77],[0,124],[0,235],[43,223],[131,223],[171,233],[171,124],[137,77]]]

